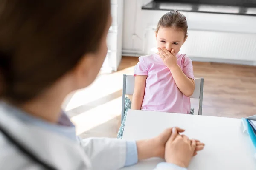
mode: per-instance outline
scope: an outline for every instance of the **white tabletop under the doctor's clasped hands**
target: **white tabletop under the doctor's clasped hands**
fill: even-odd
[[[256,170],[256,149],[243,133],[241,119],[129,110],[123,139],[148,139],[174,126],[205,143],[189,170]],[[123,170],[152,170],[160,161],[148,159]]]

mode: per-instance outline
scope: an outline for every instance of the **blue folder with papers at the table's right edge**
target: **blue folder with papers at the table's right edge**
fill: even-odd
[[[256,148],[256,115],[242,118],[242,122],[244,125],[244,129],[248,131],[250,139],[252,140],[253,145]]]

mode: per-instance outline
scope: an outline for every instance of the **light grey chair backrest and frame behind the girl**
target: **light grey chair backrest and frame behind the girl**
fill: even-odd
[[[132,95],[134,92],[135,76],[123,76],[123,93],[122,93],[122,119],[125,111],[125,95]],[[190,98],[199,99],[198,115],[202,115],[204,78],[195,79],[195,90]]]

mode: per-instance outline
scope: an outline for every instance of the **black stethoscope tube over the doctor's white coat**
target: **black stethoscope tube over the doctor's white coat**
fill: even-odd
[[[0,131],[3,133],[3,135],[8,139],[12,144],[14,144],[18,150],[20,150],[24,155],[29,157],[29,159],[35,161],[37,164],[40,164],[42,167],[44,167],[47,170],[57,170],[55,167],[52,167],[51,165],[45,163],[40,158],[38,158],[34,153],[32,153],[28,148],[24,147],[20,142],[15,140],[9,133],[6,132],[6,130],[0,126]]]

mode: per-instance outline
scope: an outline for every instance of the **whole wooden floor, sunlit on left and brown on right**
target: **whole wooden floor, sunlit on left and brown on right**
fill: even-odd
[[[137,57],[123,57],[117,72],[102,71],[89,88],[72,94],[64,106],[77,134],[116,137],[120,126],[122,75],[133,74]],[[241,118],[256,114],[256,67],[193,62],[204,78],[203,115]],[[195,113],[198,100],[192,99]]]

